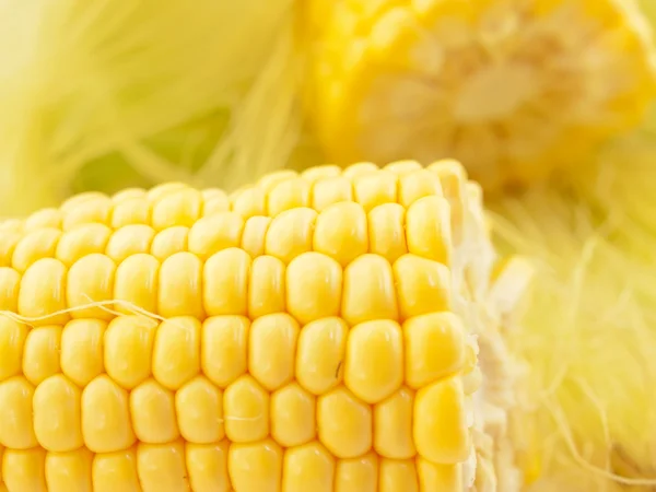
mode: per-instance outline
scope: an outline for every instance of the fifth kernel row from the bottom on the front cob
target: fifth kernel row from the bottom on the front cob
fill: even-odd
[[[407,210],[398,203],[384,203],[367,213],[362,204],[345,201],[321,212],[297,208],[273,219],[216,212],[190,227],[173,225],[160,231],[148,224],[113,231],[94,222],[65,232],[43,227],[5,233],[0,237],[0,267],[22,273],[42,258],[55,258],[70,267],[93,253],[106,254],[117,262],[134,254],[150,254],[162,261],[185,250],[208,259],[229,247],[241,247],[251,256],[276,256],[285,263],[301,253],[316,250],[342,266],[365,253],[389,261],[412,253],[450,265],[450,241],[448,201],[430,196]]]

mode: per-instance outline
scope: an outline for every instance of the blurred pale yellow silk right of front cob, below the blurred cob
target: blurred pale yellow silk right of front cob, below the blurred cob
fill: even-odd
[[[656,487],[656,139],[604,150],[567,183],[493,203],[503,250],[537,269],[518,445],[530,491]]]

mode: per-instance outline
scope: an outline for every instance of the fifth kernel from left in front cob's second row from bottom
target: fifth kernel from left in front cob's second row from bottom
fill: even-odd
[[[175,410],[180,435],[189,443],[212,444],[225,436],[223,391],[199,376],[175,395]]]

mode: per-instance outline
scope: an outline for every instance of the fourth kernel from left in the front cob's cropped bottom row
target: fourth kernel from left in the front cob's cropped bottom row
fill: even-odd
[[[139,443],[137,470],[143,492],[189,492],[185,447],[181,442],[168,444]]]

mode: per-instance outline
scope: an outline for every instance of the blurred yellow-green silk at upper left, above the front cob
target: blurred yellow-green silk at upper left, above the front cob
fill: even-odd
[[[298,140],[294,1],[0,1],[0,216],[71,194],[233,188]]]

